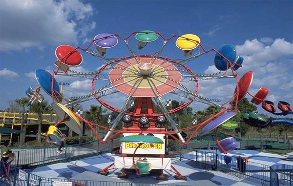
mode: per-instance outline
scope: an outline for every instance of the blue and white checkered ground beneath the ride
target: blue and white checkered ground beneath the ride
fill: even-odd
[[[213,150],[205,150],[206,152],[215,152]],[[194,152],[190,152],[191,154]],[[183,155],[183,158],[190,157],[190,153]],[[208,153],[209,154],[209,153]],[[293,157],[293,153],[285,154],[285,155],[276,155],[270,153],[263,153],[254,150],[235,150],[227,154],[228,156],[242,156],[248,157],[249,162],[258,163],[259,165],[278,165],[278,164],[286,164],[293,165],[292,161],[284,161],[281,159]],[[31,170],[31,173],[41,176],[43,178],[65,178],[65,179],[75,179],[78,175],[86,175],[83,173],[92,172],[96,173],[99,170],[102,170],[106,166],[110,165],[114,161],[115,155],[113,154],[103,154],[99,156],[94,156],[90,158],[85,158],[78,161],[72,161],[68,163],[59,163],[54,165],[47,165],[38,167]],[[203,157],[197,157],[198,161],[200,161]],[[206,160],[212,159],[211,157],[206,157]],[[264,167],[259,166],[258,164],[253,164],[257,169],[263,169]],[[246,177],[238,178],[233,175],[220,172],[220,171],[211,171],[204,170],[200,168],[196,168],[191,165],[188,161],[174,161],[172,165],[180,171],[182,175],[187,176],[187,181],[175,180],[175,173],[172,171],[165,171],[164,174],[168,175],[167,181],[157,181],[155,176],[136,176],[135,174],[130,174],[128,182],[132,183],[145,183],[145,184],[178,184],[178,185],[199,185],[199,186],[251,186],[251,185],[261,185],[251,182]],[[235,166],[237,163],[231,162],[230,166]],[[251,168],[251,167],[250,167]],[[111,173],[108,175],[109,179],[105,181],[114,181],[119,182],[119,178],[117,175],[121,172],[121,169],[112,168],[109,170]],[[251,173],[254,176],[257,176],[257,172]],[[80,179],[80,177],[79,177]],[[84,176],[83,180],[89,179]],[[101,180],[104,181],[104,180]]]

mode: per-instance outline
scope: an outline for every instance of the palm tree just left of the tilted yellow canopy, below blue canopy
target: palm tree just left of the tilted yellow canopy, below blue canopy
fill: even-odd
[[[51,111],[51,107],[48,105],[47,101],[42,101],[42,103],[33,103],[30,105],[30,111],[38,114],[38,136],[37,140],[41,142],[42,134],[42,114]]]

